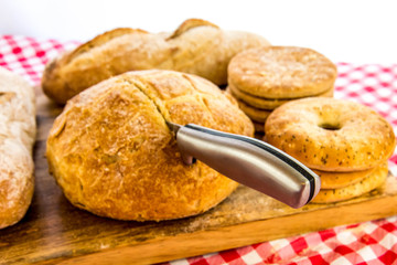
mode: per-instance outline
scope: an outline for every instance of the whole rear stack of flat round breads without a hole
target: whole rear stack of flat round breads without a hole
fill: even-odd
[[[228,92],[265,130],[269,114],[292,99],[333,96],[336,66],[322,54],[303,47],[262,46],[237,54],[228,65]]]

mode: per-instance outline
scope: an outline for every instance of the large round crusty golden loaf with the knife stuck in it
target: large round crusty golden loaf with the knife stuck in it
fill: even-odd
[[[169,220],[202,213],[238,186],[182,162],[165,120],[254,135],[215,85],[172,71],[129,72],[71,99],[47,139],[50,170],[66,198],[97,215]]]

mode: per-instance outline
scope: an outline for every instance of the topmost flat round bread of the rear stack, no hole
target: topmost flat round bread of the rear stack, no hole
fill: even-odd
[[[240,52],[228,65],[228,83],[265,98],[319,95],[332,87],[336,66],[304,47],[261,46]]]

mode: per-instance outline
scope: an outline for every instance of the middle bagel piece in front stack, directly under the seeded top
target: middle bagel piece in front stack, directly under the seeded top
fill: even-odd
[[[385,162],[385,165],[383,165],[382,167],[385,166],[387,167],[387,162]],[[353,172],[328,172],[313,169],[313,172],[321,178],[321,189],[330,190],[340,189],[357,183],[368,177],[371,173],[373,173],[377,168],[378,167]]]

